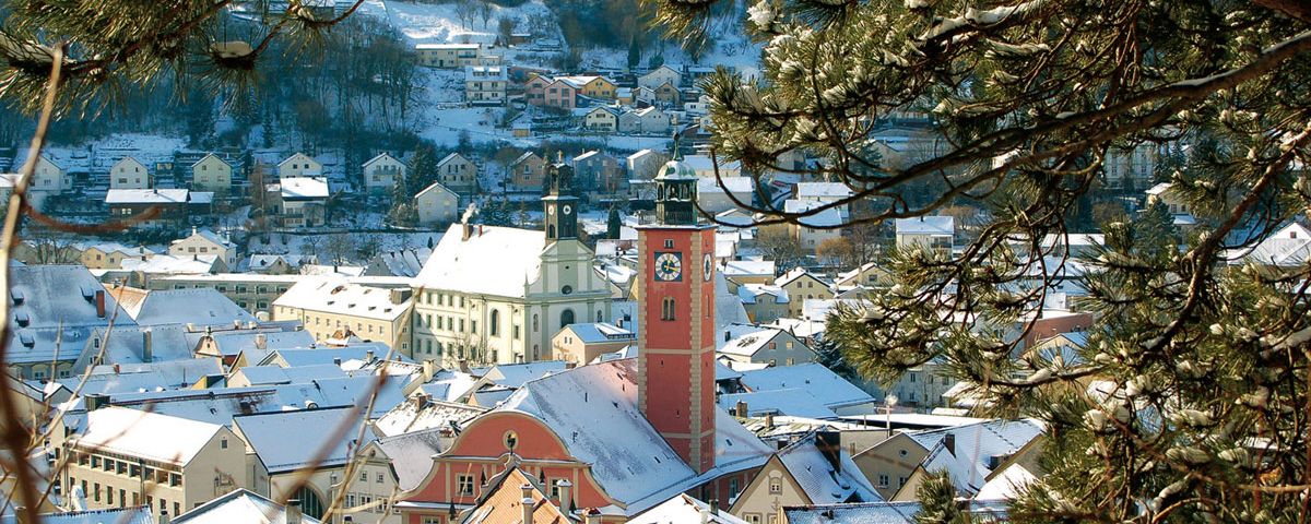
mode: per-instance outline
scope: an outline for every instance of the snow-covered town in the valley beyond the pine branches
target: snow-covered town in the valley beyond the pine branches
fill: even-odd
[[[960,183],[969,170],[935,166],[937,179],[888,193],[815,147],[725,160],[716,123],[737,117],[712,85],[801,67],[762,59],[797,38],[749,28],[779,30],[784,3],[716,3],[695,48],[641,29],[628,0],[222,3],[207,14],[223,20],[208,29],[215,56],[264,48],[235,35],[271,20],[256,4],[342,26],[317,54],[273,43],[286,56],[256,69],[254,88],[125,89],[130,109],[64,117],[39,149],[31,118],[0,114],[0,198],[30,210],[5,252],[0,403],[0,438],[30,445],[0,453],[0,523],[29,521],[20,500],[77,524],[1008,521],[1059,466],[1051,423],[966,380],[978,369],[949,350],[894,352],[895,376],[878,359],[898,356],[852,355],[885,333],[915,351],[1006,341],[979,365],[1004,386],[1063,380],[1062,394],[1103,406],[1074,415],[1093,432],[1202,427],[1210,411],[1142,400],[1147,379],[1080,367],[1133,359],[1106,348],[1106,316],[1127,313],[1092,305],[1120,296],[1089,276],[1142,266],[1113,257],[1129,242],[1116,228],[1151,224],[1176,255],[1218,232],[1214,271],[1306,288],[1306,210],[1262,227],[1215,220],[1180,160],[1219,148],[1201,140],[1105,148],[1078,165],[1093,196],[1071,198],[1059,231],[1000,240],[996,224],[1019,223],[1003,216],[1046,219],[1008,215],[1032,198],[1020,190],[1006,206],[968,202],[1011,190]],[[939,17],[919,38],[1028,4]],[[18,45],[0,38],[3,52]],[[838,97],[819,90],[821,105]],[[940,121],[948,102],[933,105],[861,113],[852,141],[888,173],[933,164],[958,147]],[[847,132],[756,121],[780,143]],[[979,169],[1020,169],[1017,151]],[[960,259],[991,267],[903,276]],[[1019,276],[971,293],[994,270]],[[922,310],[852,335],[915,296]],[[983,303],[1024,310],[958,309]],[[1289,445],[1244,441],[1257,456]],[[1156,515],[1176,485],[1145,483],[1160,496],[1124,498]],[[1044,520],[1028,508],[1025,521]]]

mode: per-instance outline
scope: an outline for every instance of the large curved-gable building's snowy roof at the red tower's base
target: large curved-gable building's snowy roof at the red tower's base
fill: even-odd
[[[700,485],[701,478],[764,462],[770,447],[716,410],[716,465],[697,476],[638,409],[636,376],[635,359],[578,367],[524,384],[493,413],[522,411],[541,421],[569,455],[591,464],[593,477],[627,504],[629,515]]]

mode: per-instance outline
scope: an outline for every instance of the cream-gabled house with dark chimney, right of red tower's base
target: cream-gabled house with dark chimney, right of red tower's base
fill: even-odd
[[[881,502],[884,498],[843,449],[836,431],[819,431],[773,453],[733,499],[747,523],[781,523],[793,506]]]

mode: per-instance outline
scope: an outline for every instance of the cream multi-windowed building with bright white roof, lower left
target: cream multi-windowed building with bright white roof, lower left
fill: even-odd
[[[223,424],[101,407],[105,400],[88,396],[85,422],[56,432],[68,457],[59,481],[81,489],[88,508],[146,506],[163,517],[248,485],[245,445]]]

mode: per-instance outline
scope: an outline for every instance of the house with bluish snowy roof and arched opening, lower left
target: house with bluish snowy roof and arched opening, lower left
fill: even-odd
[[[351,452],[366,444],[353,436],[362,423],[354,405],[232,417],[232,431],[246,443],[246,486],[274,500],[298,499],[304,515],[323,517],[341,489]],[[338,426],[351,436],[341,438]]]

